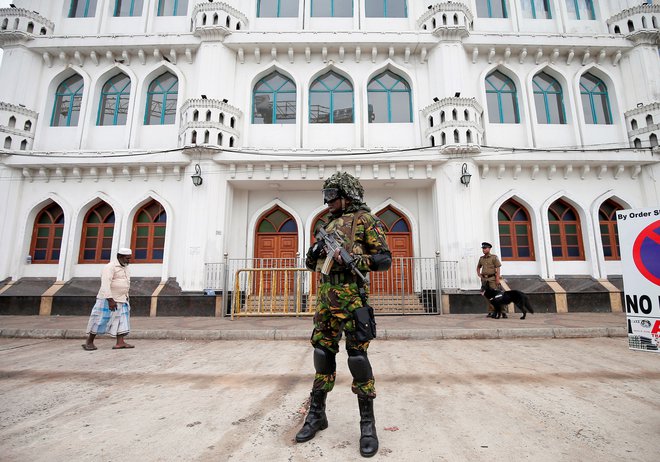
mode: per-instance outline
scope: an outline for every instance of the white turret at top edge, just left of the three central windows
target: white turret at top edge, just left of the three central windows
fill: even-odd
[[[247,28],[247,16],[226,3],[198,3],[192,13],[192,32],[206,40],[223,40]]]

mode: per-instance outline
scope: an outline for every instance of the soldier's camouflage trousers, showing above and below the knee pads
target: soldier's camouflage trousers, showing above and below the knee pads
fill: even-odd
[[[346,351],[357,350],[366,353],[369,342],[358,342],[355,332],[353,312],[362,306],[357,284],[322,283],[314,313],[314,330],[310,341],[315,348],[323,348],[332,354],[339,352],[339,341],[346,333]],[[314,390],[332,391],[335,386],[336,371],[314,376]],[[351,390],[356,395],[376,397],[375,380],[366,382],[353,380]]]

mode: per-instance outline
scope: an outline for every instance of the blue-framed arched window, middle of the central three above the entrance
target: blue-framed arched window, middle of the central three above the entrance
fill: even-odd
[[[309,88],[309,122],[353,123],[353,85],[334,71],[320,76]]]

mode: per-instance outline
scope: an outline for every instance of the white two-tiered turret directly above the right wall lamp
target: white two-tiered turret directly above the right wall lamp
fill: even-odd
[[[479,152],[483,143],[483,109],[474,98],[443,98],[422,111],[431,146],[457,152]]]

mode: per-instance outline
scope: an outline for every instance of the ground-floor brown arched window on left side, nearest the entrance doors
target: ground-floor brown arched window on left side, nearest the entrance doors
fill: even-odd
[[[156,200],[138,210],[133,219],[133,263],[162,263],[167,213]]]

